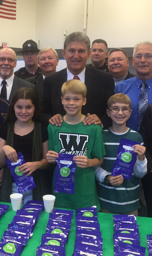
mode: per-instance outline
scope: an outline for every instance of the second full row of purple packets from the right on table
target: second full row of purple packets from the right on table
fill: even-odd
[[[98,224],[97,207],[77,209],[75,219],[76,241],[73,256],[101,256],[103,239]]]

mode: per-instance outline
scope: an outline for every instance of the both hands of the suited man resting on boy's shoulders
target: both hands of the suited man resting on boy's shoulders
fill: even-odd
[[[49,123],[55,126],[61,126],[63,118],[60,114],[56,114],[49,119]],[[102,126],[102,122],[96,114],[87,114],[87,117],[83,120],[84,125],[99,124]]]

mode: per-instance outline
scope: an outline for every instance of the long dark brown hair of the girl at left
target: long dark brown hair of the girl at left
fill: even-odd
[[[15,105],[16,101],[19,99],[25,99],[25,100],[32,101],[32,104],[35,106],[35,112],[32,117],[32,120],[41,123],[41,111],[40,111],[40,106],[39,106],[36,92],[32,88],[25,88],[25,87],[18,89],[14,93],[14,96],[13,96],[12,102],[10,104],[8,115],[7,115],[7,118],[5,119],[5,122],[15,122],[17,120],[15,111],[14,111],[14,105]]]

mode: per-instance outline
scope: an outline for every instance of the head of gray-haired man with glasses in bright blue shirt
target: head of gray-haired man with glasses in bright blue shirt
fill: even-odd
[[[152,45],[139,45],[136,48],[135,56],[132,59],[132,65],[136,70],[136,75],[142,81],[146,81],[152,77],[152,58],[145,59],[145,57],[142,57],[141,59],[137,59],[136,55],[144,56],[146,54],[152,55]]]

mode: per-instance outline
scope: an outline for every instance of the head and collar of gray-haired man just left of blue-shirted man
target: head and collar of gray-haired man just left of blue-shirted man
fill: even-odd
[[[121,48],[111,49],[108,53],[108,69],[113,77],[115,85],[135,76],[128,71],[128,67],[129,60],[127,52]]]

